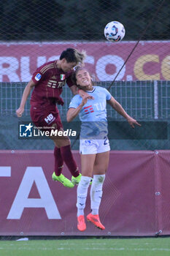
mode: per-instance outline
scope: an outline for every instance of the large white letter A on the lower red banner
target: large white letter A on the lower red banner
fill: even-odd
[[[36,184],[40,198],[28,198]],[[7,219],[20,219],[24,208],[45,208],[48,219],[61,219],[42,167],[27,167]]]

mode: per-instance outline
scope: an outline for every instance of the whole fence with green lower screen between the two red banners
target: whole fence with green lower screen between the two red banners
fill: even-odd
[[[109,82],[97,82],[98,86],[109,88]],[[29,115],[30,103],[26,102],[26,109],[22,118],[17,118],[15,110],[20,105],[20,99],[26,83],[0,83],[0,149],[53,149],[51,140],[19,140],[18,125],[20,121],[31,121]],[[169,149],[170,140],[170,81],[116,81],[111,87],[111,94],[127,111],[136,118],[142,127],[131,129],[123,117],[118,115],[110,105],[107,105],[109,120],[109,140],[114,150],[155,150]],[[66,111],[73,95],[69,87],[65,86],[62,93],[65,104],[58,106],[64,129]],[[78,118],[77,118],[78,119]],[[77,130],[80,122],[71,124]],[[78,149],[79,140],[73,149]]]

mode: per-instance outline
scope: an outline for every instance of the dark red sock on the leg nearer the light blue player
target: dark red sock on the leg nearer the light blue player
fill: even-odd
[[[70,173],[72,173],[72,176],[79,176],[80,172],[76,162],[74,161],[70,145],[61,147],[61,154],[63,157],[63,161],[66,163],[66,166],[69,168],[69,171]]]

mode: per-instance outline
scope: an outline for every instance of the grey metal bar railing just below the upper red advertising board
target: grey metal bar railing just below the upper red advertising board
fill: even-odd
[[[97,86],[108,89],[110,82],[97,82]],[[0,115],[15,115],[26,83],[0,83]],[[158,120],[170,117],[170,81],[116,81],[111,87],[111,94],[123,106],[125,111],[140,120]],[[63,107],[58,106],[63,120],[73,95],[70,89],[63,88]],[[23,116],[29,116],[28,98]],[[112,119],[122,119],[109,105],[107,115]]]

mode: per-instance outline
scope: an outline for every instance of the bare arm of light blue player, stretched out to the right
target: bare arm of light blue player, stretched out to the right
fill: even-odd
[[[108,102],[109,102],[109,105],[111,105],[112,108],[114,108],[117,111],[117,113],[119,113],[121,116],[127,119],[128,124],[130,124],[132,128],[134,128],[134,124],[141,127],[141,124],[139,124],[134,118],[129,116],[128,113],[125,112],[122,105],[120,105],[120,103],[117,102],[117,100],[114,97],[111,97],[111,99]]]

